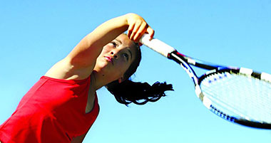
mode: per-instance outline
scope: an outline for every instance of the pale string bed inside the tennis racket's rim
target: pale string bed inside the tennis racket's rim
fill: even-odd
[[[245,75],[217,73],[200,83],[212,105],[232,117],[271,123],[271,84]]]

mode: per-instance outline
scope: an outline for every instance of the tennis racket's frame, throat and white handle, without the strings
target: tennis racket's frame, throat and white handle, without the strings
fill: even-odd
[[[255,127],[255,128],[262,128],[262,129],[271,129],[270,123],[257,122],[257,121],[247,120],[242,117],[232,117],[230,115],[227,115],[225,112],[213,106],[212,101],[203,94],[200,88],[200,83],[203,81],[203,79],[214,73],[227,72],[227,73],[242,74],[242,75],[250,76],[253,78],[260,79],[260,80],[265,80],[269,83],[271,83],[271,75],[267,73],[257,73],[248,68],[227,67],[223,65],[215,65],[213,63],[208,63],[203,60],[197,60],[187,55],[183,55],[182,53],[178,53],[178,51],[176,51],[175,48],[168,46],[166,43],[163,43],[162,41],[159,41],[156,38],[153,38],[153,40],[151,41],[149,39],[150,37],[148,36],[148,34],[145,34],[140,39],[140,43],[143,43],[148,48],[153,49],[153,51],[156,51],[160,53],[161,55],[165,56],[166,58],[170,60],[174,60],[176,63],[180,64],[181,67],[185,70],[185,72],[188,73],[190,78],[193,80],[193,83],[195,85],[195,93],[197,97],[203,102],[203,105],[205,105],[205,107],[207,107],[211,112],[215,113],[215,115],[218,115],[219,117],[222,117],[223,119],[229,122],[235,122],[239,125],[245,125],[247,127]],[[205,70],[208,70],[208,72],[198,77],[198,75],[196,75],[195,71],[193,70],[193,68],[191,68],[190,65],[193,65],[198,68],[203,68]]]

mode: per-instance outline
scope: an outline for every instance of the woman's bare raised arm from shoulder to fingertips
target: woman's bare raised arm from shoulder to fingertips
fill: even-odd
[[[66,58],[48,70],[46,76],[69,80],[87,78],[103,46],[126,30],[128,30],[128,37],[133,41],[138,41],[143,33],[150,33],[151,37],[154,34],[153,29],[137,14],[112,18],[84,37]]]

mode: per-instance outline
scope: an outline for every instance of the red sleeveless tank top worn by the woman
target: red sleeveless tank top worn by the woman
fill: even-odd
[[[58,80],[46,76],[24,95],[0,126],[2,143],[65,143],[86,134],[99,112],[97,95],[86,113],[90,77]]]

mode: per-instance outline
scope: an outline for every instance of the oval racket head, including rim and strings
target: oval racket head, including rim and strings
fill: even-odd
[[[205,107],[240,125],[271,129],[271,75],[223,68],[202,75],[195,92]]]

